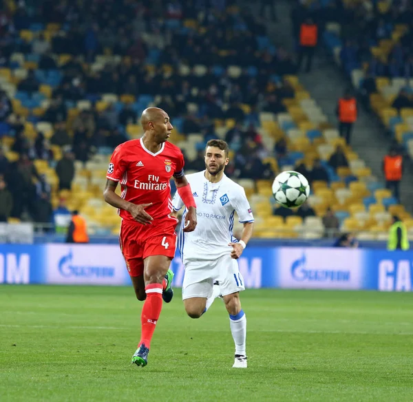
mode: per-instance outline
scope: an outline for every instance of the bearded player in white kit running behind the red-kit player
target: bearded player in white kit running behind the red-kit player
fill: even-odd
[[[182,299],[189,317],[199,318],[216,297],[222,297],[235,343],[233,367],[246,368],[246,316],[240,303],[240,291],[245,288],[237,258],[253,234],[254,217],[244,189],[224,174],[228,154],[225,141],[209,140],[206,170],[186,176],[198,224],[191,233],[184,232],[181,225],[180,254],[185,268]],[[178,192],[172,206],[175,211],[184,206]],[[235,212],[244,224],[240,241],[232,233]],[[186,213],[185,209],[182,222]]]

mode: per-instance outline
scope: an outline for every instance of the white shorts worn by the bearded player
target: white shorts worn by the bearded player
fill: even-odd
[[[237,260],[231,255],[222,255],[213,261],[189,261],[184,264],[182,299],[191,297],[211,297],[214,282],[218,282],[221,295],[245,290],[244,278],[238,269]]]

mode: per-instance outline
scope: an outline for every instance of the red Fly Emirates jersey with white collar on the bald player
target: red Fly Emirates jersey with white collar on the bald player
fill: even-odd
[[[120,182],[124,200],[133,204],[153,204],[145,211],[153,220],[167,218],[172,211],[171,178],[184,176],[184,156],[176,145],[164,142],[156,154],[145,148],[142,138],[123,142],[114,150],[107,178]],[[120,217],[134,221],[123,209]],[[135,222],[135,221],[134,221]]]

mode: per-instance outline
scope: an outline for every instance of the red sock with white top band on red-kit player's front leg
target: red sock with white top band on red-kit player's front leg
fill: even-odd
[[[153,331],[159,319],[160,310],[162,310],[162,287],[161,284],[149,284],[145,287],[147,298],[143,304],[142,315],[140,316],[142,333],[138,347],[142,343],[145,343],[147,348],[151,346]]]

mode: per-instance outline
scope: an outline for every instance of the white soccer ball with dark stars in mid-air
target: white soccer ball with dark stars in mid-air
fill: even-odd
[[[301,173],[283,171],[274,179],[273,195],[283,207],[299,207],[310,195],[310,185]]]

